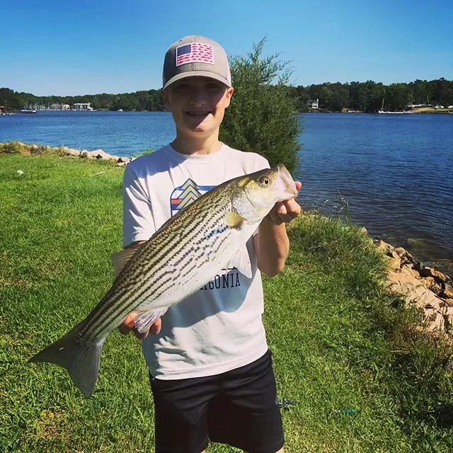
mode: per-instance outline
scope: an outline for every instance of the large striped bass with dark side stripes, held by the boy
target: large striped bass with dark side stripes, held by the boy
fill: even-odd
[[[88,398],[98,377],[108,334],[137,311],[136,327],[147,331],[169,306],[206,285],[222,268],[252,277],[246,242],[276,202],[297,195],[280,165],[218,185],[171,217],[151,238],[113,257],[117,275],[90,314],[29,362],[67,369]],[[163,321],[165,322],[165,321]]]

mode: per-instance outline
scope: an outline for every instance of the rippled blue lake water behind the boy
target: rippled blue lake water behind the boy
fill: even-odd
[[[348,214],[373,236],[453,275],[453,115],[307,114],[301,120],[302,205]],[[0,117],[0,142],[101,148],[117,156],[158,149],[174,134],[167,112]]]

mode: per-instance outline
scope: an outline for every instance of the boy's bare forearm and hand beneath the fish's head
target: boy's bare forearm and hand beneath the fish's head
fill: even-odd
[[[299,190],[302,184],[296,182]],[[255,241],[258,269],[268,277],[282,272],[289,253],[289,239],[285,224],[295,219],[301,212],[296,200],[287,200],[275,204],[270,213],[261,222]]]

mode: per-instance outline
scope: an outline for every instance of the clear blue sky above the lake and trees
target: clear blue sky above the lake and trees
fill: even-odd
[[[0,87],[38,96],[161,86],[166,49],[206,35],[229,55],[267,37],[294,85],[453,79],[453,1],[0,0]]]

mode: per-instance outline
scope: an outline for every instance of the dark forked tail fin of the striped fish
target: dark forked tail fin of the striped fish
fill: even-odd
[[[81,336],[79,323],[69,333],[55,341],[28,362],[49,362],[67,369],[74,384],[88,398],[93,394],[98,377],[99,362],[104,340],[86,343]]]

